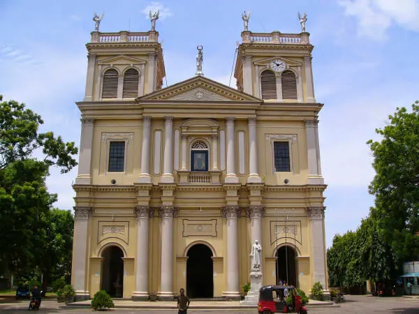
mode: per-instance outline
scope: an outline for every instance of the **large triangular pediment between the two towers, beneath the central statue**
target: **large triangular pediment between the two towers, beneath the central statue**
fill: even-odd
[[[154,91],[151,94],[139,97],[138,100],[262,101],[203,76],[192,77],[165,89]]]

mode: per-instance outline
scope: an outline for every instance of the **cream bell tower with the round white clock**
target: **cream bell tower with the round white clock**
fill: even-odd
[[[266,102],[316,103],[309,33],[242,31],[237,89]]]

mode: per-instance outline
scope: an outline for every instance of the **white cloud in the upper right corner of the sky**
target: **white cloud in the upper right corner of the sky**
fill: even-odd
[[[356,17],[360,36],[384,40],[393,24],[419,31],[419,0],[339,0],[338,3],[346,15]]]

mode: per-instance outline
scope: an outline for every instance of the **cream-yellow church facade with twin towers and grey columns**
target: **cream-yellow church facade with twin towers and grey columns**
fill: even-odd
[[[157,31],[91,33],[77,103],[76,299],[173,299],[181,287],[237,299],[256,240],[263,284],[328,290],[309,33],[241,37],[237,89],[200,69],[163,88]]]

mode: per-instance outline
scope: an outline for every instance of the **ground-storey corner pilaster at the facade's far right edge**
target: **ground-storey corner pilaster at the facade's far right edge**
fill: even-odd
[[[325,250],[325,207],[307,207],[307,217],[311,225],[311,255],[314,267],[314,283],[320,281],[324,290],[328,290],[326,285],[326,250]]]

